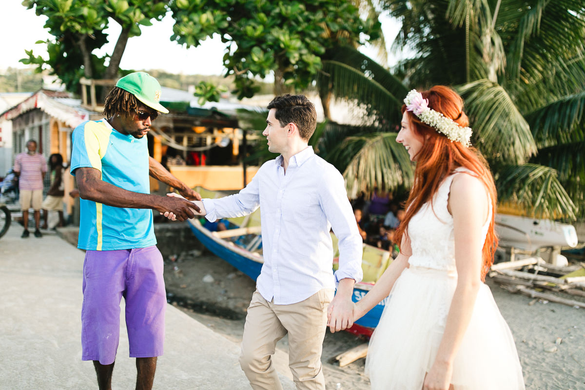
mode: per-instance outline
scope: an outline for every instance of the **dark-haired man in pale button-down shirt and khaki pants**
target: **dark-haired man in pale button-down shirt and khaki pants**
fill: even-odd
[[[297,389],[324,390],[323,339],[328,325],[332,332],[353,325],[351,296],[362,279],[362,237],[342,175],[308,146],[316,127],[313,103],[303,95],[283,95],[268,108],[263,135],[269,150],[280,156],[264,163],[238,194],[195,203],[212,222],[261,208],[264,264],[247,311],[240,356],[252,388],[282,389],[271,355],[288,333]],[[330,229],[339,239],[335,275]]]

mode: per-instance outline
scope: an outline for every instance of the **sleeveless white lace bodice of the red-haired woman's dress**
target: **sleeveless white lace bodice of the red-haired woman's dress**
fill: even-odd
[[[412,216],[408,224],[408,234],[412,247],[412,256],[408,260],[409,264],[415,267],[433,268],[435,270],[456,271],[453,216],[450,215],[447,209],[447,201],[453,177],[463,171],[470,172],[466,168],[457,168],[454,174],[446,177],[439,185],[437,192],[433,196],[432,207],[431,202],[426,202]],[[487,221],[482,227],[484,240],[491,219],[491,205],[489,213]]]

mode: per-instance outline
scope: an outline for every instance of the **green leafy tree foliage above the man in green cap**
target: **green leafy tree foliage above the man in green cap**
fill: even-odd
[[[150,26],[167,11],[161,0],[24,0],[37,15],[47,16],[44,27],[54,39],[48,40],[49,58],[35,56],[27,50],[25,64],[37,70],[49,69],[68,90],[75,91],[81,77],[115,79],[129,37],[140,35],[140,25]],[[104,29],[109,20],[122,27],[111,56],[98,57],[92,52],[107,42]],[[37,42],[37,43],[43,43]]]

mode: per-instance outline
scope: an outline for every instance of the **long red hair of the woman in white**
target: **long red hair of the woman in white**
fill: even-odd
[[[463,99],[449,87],[436,85],[428,91],[421,92],[421,94],[423,98],[428,99],[429,108],[453,119],[459,126],[469,125],[469,119],[463,112]],[[402,105],[402,113],[405,111],[406,106]],[[465,147],[459,142],[450,141],[445,135],[437,132],[434,127],[421,122],[412,112],[407,111],[407,118],[413,132],[422,136],[424,144],[416,156],[417,167],[414,172],[414,184],[406,201],[406,213],[395,232],[398,242],[401,242],[404,234],[408,236],[408,223],[422,205],[431,202],[432,206],[433,195],[442,181],[456,168],[467,168],[483,182],[491,201],[490,226],[481,253],[483,259],[481,280],[484,281],[491,264],[493,264],[494,252],[498,245],[494,230],[497,194],[490,168],[474,147]]]

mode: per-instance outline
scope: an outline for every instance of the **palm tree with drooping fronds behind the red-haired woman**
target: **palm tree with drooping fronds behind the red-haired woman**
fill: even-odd
[[[583,1],[387,0],[387,9],[402,20],[394,46],[415,53],[393,74],[351,48],[324,61],[320,84],[367,113],[359,135],[336,124],[323,137],[348,184],[408,184],[400,149],[374,140],[395,137],[408,89],[446,84],[465,99],[501,202],[529,215],[585,217]]]

